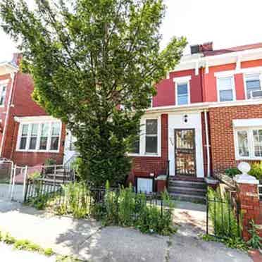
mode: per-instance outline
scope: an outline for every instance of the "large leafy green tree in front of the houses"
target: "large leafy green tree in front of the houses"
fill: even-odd
[[[186,45],[173,37],[161,50],[163,1],[35,0],[30,8],[2,0],[0,8],[35,81],[33,98],[77,137],[82,177],[96,186],[123,182],[154,85]]]

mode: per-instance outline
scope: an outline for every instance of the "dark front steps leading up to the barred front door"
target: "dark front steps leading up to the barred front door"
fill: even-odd
[[[169,180],[168,192],[174,199],[194,203],[206,202],[206,182],[204,180]]]

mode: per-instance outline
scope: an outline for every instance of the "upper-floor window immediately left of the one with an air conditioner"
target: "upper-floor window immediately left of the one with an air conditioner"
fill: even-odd
[[[233,77],[218,78],[218,97],[220,102],[234,100]]]

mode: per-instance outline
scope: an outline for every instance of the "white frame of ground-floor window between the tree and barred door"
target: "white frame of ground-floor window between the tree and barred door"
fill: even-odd
[[[146,120],[157,120],[157,153],[146,153]],[[140,120],[141,130],[139,136],[139,154],[128,153],[128,156],[161,157],[161,115],[146,116]]]

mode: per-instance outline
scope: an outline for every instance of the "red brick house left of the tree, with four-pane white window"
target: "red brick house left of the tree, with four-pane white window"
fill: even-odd
[[[32,100],[32,77],[18,69],[20,55],[0,63],[0,156],[18,166],[63,163],[66,128]]]

